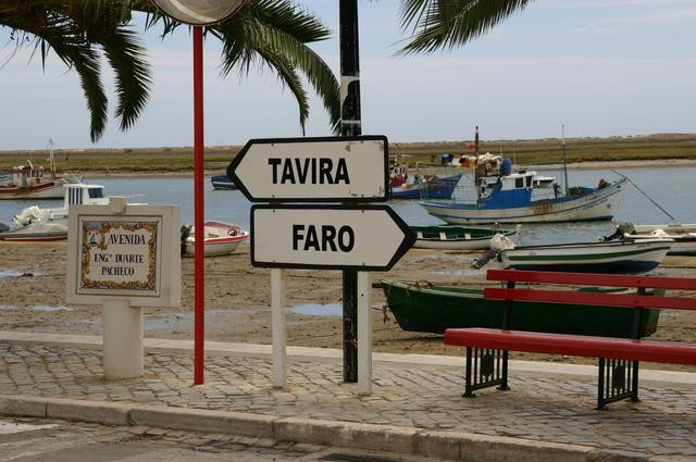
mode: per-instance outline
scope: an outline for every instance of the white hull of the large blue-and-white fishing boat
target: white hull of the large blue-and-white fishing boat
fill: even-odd
[[[463,202],[423,201],[427,213],[449,224],[558,223],[611,220],[619,210],[625,179],[585,196],[533,201],[527,205],[482,209]]]

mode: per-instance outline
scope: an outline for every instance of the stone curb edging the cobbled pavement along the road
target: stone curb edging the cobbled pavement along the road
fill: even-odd
[[[254,436],[278,441],[467,462],[680,462],[688,460],[683,457],[651,457],[645,453],[611,451],[588,446],[463,432],[26,396],[0,395],[0,415]]]

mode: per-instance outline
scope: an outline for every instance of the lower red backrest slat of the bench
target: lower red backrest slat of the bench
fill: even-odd
[[[580,292],[542,289],[501,289],[486,287],[486,299],[537,301],[543,303],[572,303],[602,307],[659,308],[671,310],[696,310],[696,298],[639,296],[624,294]]]

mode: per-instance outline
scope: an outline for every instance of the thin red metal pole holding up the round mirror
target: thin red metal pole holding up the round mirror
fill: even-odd
[[[194,385],[203,383],[206,360],[206,261],[204,192],[203,192],[203,28],[194,26],[194,202],[196,228],[196,257],[194,270]]]

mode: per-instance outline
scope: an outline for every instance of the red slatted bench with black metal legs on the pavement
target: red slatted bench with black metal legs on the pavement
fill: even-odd
[[[514,270],[490,270],[487,279],[507,283],[506,288],[489,287],[484,290],[486,299],[506,301],[501,328],[450,328],[445,332],[446,345],[467,347],[464,397],[474,397],[475,390],[493,386],[502,390],[509,389],[508,351],[598,358],[597,409],[605,409],[608,403],[625,399],[638,401],[641,361],[696,365],[696,345],[639,338],[639,326],[646,308],[696,310],[696,298],[646,295],[646,289],[696,290],[696,279]],[[515,288],[517,283],[625,287],[635,288],[637,291],[607,294],[571,289]],[[509,330],[510,321],[514,316],[515,301],[527,304],[570,303],[631,308],[635,310],[631,338]]]

